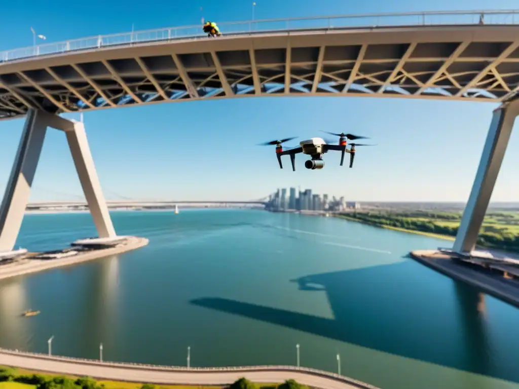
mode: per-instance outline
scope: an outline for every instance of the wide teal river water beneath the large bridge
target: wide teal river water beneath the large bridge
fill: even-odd
[[[114,212],[134,252],[0,282],[0,345],[192,366],[301,364],[384,389],[519,387],[519,310],[419,265],[445,241],[249,210]],[[28,215],[19,242],[94,236],[89,214]],[[42,313],[20,317],[25,309]]]

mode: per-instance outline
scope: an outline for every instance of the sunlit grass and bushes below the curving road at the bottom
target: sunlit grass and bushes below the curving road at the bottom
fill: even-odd
[[[89,377],[56,376],[0,366],[0,389],[218,389],[218,386],[153,385],[136,382],[96,381]],[[245,378],[220,389],[308,389],[294,380],[282,384],[256,384]]]

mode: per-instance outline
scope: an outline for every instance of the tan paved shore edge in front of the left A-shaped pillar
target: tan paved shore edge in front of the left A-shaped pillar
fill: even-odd
[[[29,255],[21,259],[0,265],[0,280],[65,266],[73,266],[77,265],[78,263],[91,261],[93,259],[100,259],[112,255],[122,254],[144,247],[148,243],[149,240],[146,238],[130,237],[128,241],[120,246],[87,251],[74,255],[73,257],[56,259],[31,259],[31,256],[39,253],[29,253]]]

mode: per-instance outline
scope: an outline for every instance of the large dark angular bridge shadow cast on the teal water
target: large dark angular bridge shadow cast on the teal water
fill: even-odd
[[[413,278],[416,265],[405,261],[292,280],[305,293],[325,291],[332,319],[223,298],[190,302],[373,350],[519,382],[519,374],[513,369],[497,369],[490,364],[484,317],[476,308],[477,291],[457,283],[452,299],[452,287],[445,287],[448,283],[441,284],[443,289],[421,287],[423,281]]]

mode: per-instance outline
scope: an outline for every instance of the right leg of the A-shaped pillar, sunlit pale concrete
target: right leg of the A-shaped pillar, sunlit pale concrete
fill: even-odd
[[[115,238],[117,235],[95,171],[85,126],[81,122],[75,122],[74,129],[65,131],[65,134],[99,238]]]

